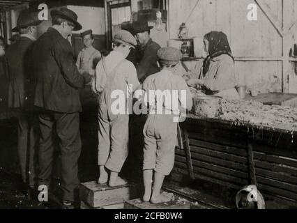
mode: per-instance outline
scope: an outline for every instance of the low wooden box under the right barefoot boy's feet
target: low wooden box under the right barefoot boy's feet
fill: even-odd
[[[144,202],[141,199],[134,199],[130,201],[126,201],[124,203],[124,209],[190,209],[191,202],[185,199],[181,199],[180,197],[176,197],[173,194],[172,201],[169,201],[167,203],[158,203],[158,204],[152,204],[149,202]]]

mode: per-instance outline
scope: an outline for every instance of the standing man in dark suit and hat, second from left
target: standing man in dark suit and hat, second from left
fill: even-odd
[[[52,10],[51,15],[52,27],[40,36],[33,48],[36,75],[34,105],[42,109],[39,115],[38,185],[50,185],[56,136],[61,149],[63,208],[74,208],[75,190],[79,186],[77,160],[82,147],[79,132],[82,105],[78,90],[84,89],[91,76],[79,73],[67,40],[73,30],[82,29],[77,15],[68,8]]]

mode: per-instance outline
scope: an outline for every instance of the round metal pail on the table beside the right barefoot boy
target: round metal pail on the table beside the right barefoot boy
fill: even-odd
[[[206,118],[217,118],[222,114],[222,98],[198,96],[193,99],[194,114]]]

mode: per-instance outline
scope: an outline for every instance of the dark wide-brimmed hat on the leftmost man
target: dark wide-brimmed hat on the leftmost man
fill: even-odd
[[[20,29],[29,26],[37,26],[41,22],[41,20],[38,20],[37,13],[30,13],[29,10],[23,10],[20,13],[20,16],[17,18],[17,26],[13,28],[11,31],[17,32],[20,31]]]

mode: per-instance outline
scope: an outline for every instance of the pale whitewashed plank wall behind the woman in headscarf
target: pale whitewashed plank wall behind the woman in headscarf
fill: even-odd
[[[248,20],[250,3],[259,3],[257,21]],[[287,29],[297,19],[296,12],[294,0],[169,1],[169,38],[177,38],[182,22],[186,22],[190,37],[203,38],[209,31],[224,31],[236,57],[238,76],[245,79],[249,89],[293,92],[297,86],[288,82],[294,82],[289,48],[296,28],[293,26],[289,34]]]

